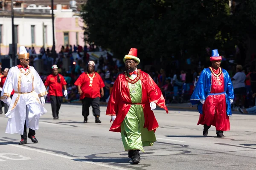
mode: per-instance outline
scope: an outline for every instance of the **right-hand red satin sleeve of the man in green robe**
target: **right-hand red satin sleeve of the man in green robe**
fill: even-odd
[[[147,89],[149,102],[155,102],[160,108],[163,108],[164,110],[166,110],[166,113],[168,113],[162,91],[148,74],[146,75],[146,79],[148,86]]]

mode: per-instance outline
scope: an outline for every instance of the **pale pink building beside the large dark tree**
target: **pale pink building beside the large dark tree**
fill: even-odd
[[[62,9],[57,5],[55,13],[55,50],[61,51],[61,46],[80,45],[84,47],[84,22],[79,14],[72,9]]]

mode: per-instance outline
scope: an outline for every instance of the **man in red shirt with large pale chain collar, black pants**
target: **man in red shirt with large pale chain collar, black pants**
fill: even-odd
[[[84,116],[84,123],[87,123],[90,105],[93,108],[95,123],[101,123],[99,120],[99,98],[104,96],[103,88],[105,84],[100,75],[94,71],[94,66],[94,61],[89,61],[87,72],[82,73],[75,82],[83,104],[82,115]]]

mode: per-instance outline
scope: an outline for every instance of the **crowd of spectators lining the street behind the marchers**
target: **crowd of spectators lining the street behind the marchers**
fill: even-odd
[[[63,99],[63,102],[75,102],[79,100],[79,94],[74,82],[84,71],[86,71],[85,69],[90,57],[87,51],[102,51],[102,49],[95,45],[84,46],[84,48],[80,45],[78,45],[78,47],[75,45],[67,45],[66,47],[61,47],[55,58],[52,57],[49,48],[47,48],[47,50],[44,48],[41,49],[40,56],[43,60],[44,73],[41,72],[40,76],[43,81],[45,81],[47,75],[50,74],[50,67],[53,64],[58,65],[59,73],[62,74],[67,81],[68,96]],[[28,52],[35,54],[33,48],[29,48]],[[74,52],[77,53],[76,59],[74,59],[72,55]],[[39,58],[38,55],[35,55],[35,57],[32,57],[30,64],[33,65],[33,62]],[[61,69],[64,58],[70,60],[71,64],[68,70]],[[186,62],[190,61],[187,60]],[[243,109],[254,106],[255,98],[253,98],[253,94],[256,93],[255,63],[250,63],[250,65],[244,65],[243,67],[232,60],[230,62],[223,60],[221,65],[227,69],[233,80],[235,92],[233,108]],[[190,95],[192,94],[201,71],[204,68],[206,67],[199,62],[193,69],[180,69],[177,67],[156,69],[151,67],[143,69],[143,71],[147,72],[154,82],[157,83],[166,99],[166,104],[169,105],[171,103],[189,102]],[[95,71],[99,73],[105,82],[105,95],[101,99],[102,102],[108,102],[115,79],[124,70],[125,67],[123,63],[120,62],[119,59],[113,58],[111,53],[108,52],[106,52],[106,55],[100,56],[99,59],[95,61]]]

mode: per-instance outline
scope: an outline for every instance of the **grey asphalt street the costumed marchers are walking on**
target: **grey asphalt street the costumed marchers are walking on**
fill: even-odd
[[[214,127],[209,136],[202,135],[203,126],[197,125],[195,111],[162,110],[154,113],[160,127],[157,142],[144,147],[138,165],[131,164],[124,151],[121,134],[110,132],[110,116],[101,107],[101,124],[94,123],[92,114],[83,123],[80,105],[62,105],[60,119],[48,113],[40,119],[36,131],[38,144],[28,140],[17,145],[18,134],[5,133],[7,118],[0,116],[1,170],[255,170],[256,116],[233,114],[231,131],[225,138],[216,138]],[[90,110],[91,111],[91,110]]]

